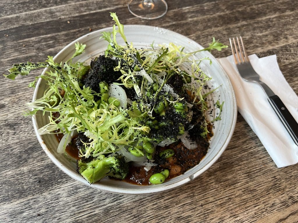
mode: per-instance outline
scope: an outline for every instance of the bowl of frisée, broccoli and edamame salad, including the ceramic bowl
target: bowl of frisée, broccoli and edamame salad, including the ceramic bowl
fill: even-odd
[[[232,137],[232,84],[209,52],[167,29],[115,25],[86,34],[42,63],[28,103],[37,138],[60,168],[118,194],[173,189],[206,171]]]

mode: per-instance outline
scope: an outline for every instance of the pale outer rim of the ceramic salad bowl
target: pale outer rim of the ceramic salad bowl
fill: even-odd
[[[197,42],[195,42],[194,40],[184,36],[184,35],[181,35],[179,33],[176,33],[176,32],[173,32],[173,31],[170,31],[168,29],[164,29],[164,28],[160,28],[160,27],[156,27],[156,26],[146,26],[146,25],[124,25],[125,28],[130,28],[130,29],[159,29],[161,31],[164,31],[164,32],[167,32],[167,33],[170,33],[170,34],[175,34],[175,35],[179,35],[180,37],[183,37],[184,39],[186,38],[188,40],[188,42],[190,43],[194,43],[200,47],[202,47],[200,44],[198,44]],[[85,34],[79,38],[77,38],[76,40],[72,41],[71,43],[69,43],[68,45],[66,45],[62,50],[60,50],[58,52],[58,54],[55,55],[55,57],[53,58],[54,61],[55,59],[57,59],[57,57],[59,57],[61,54],[64,53],[64,51],[66,51],[69,47],[73,46],[75,43],[77,42],[82,42],[81,40],[84,40],[86,37],[90,36],[90,35],[96,35],[97,37],[99,37],[100,33],[101,32],[107,32],[107,31],[111,31],[112,27],[107,27],[107,28],[104,28],[104,29],[99,29],[99,30],[96,30],[96,31],[93,31],[93,32],[90,32],[88,34]],[[207,52],[209,53],[209,52]],[[209,58],[212,60],[212,61],[216,61],[217,62],[217,59],[211,54],[209,53]],[[232,138],[232,135],[234,133],[234,130],[235,130],[235,125],[236,125],[236,120],[237,120],[237,104],[236,104],[236,96],[235,96],[235,91],[233,89],[233,86],[232,86],[232,83],[229,79],[229,76],[226,74],[226,71],[224,70],[224,68],[220,65],[219,62],[217,62],[217,65],[218,65],[218,68],[220,69],[221,73],[225,76],[228,84],[229,84],[229,89],[231,90],[230,92],[230,95],[231,95],[231,98],[232,98],[232,102],[233,102],[233,109],[232,109],[232,125],[231,125],[231,128],[230,128],[230,131],[229,131],[229,134],[227,135],[226,137],[226,140],[224,141],[224,143],[222,144],[221,148],[218,150],[218,152],[216,153],[216,155],[211,159],[211,161],[209,161],[209,163],[207,163],[204,167],[202,167],[201,169],[199,169],[197,172],[195,172],[194,174],[190,175],[189,177],[186,177],[184,179],[181,179],[175,183],[172,183],[170,185],[164,185],[163,184],[159,184],[158,186],[157,185],[150,185],[150,188],[146,187],[146,189],[142,189],[143,186],[139,186],[140,189],[135,189],[135,188],[132,188],[132,189],[128,189],[128,188],[119,188],[119,187],[115,187],[115,186],[107,186],[107,185],[103,185],[103,184],[100,184],[100,183],[95,183],[95,184],[88,184],[88,182],[86,182],[85,179],[83,179],[81,176],[78,176],[76,173],[72,172],[72,171],[69,171],[66,167],[64,167],[63,163],[60,162],[56,157],[55,155],[49,150],[49,148],[46,146],[45,142],[43,141],[42,137],[40,134],[38,134],[38,123],[37,123],[37,120],[36,120],[36,116],[33,115],[32,116],[32,122],[33,122],[33,127],[34,127],[34,131],[35,131],[35,134],[37,136],[37,139],[41,145],[41,147],[43,148],[44,152],[46,153],[46,155],[52,160],[52,162],[58,166],[64,173],[66,173],[67,175],[69,175],[71,178],[87,185],[87,186],[90,186],[92,188],[95,188],[95,189],[100,189],[102,191],[106,191],[106,192],[110,192],[110,193],[116,193],[116,194],[151,194],[151,193],[158,193],[158,192],[162,192],[162,191],[166,191],[166,190],[170,190],[170,189],[173,189],[173,188],[176,188],[176,187],[179,187],[191,180],[193,180],[194,178],[198,177],[199,175],[201,175],[203,172],[205,172],[207,169],[209,169],[209,167],[211,167],[217,160],[218,158],[221,156],[221,154],[224,152],[224,150],[226,149],[226,147],[228,146],[231,138]],[[46,70],[48,68],[45,68],[43,70],[43,72],[41,73],[41,75],[44,75]],[[41,84],[41,81],[42,81],[42,78],[39,78],[38,79],[38,82],[35,86],[35,90],[34,90],[34,94],[33,94],[33,98],[32,98],[32,101],[35,101],[36,98],[37,98],[37,93],[38,93],[38,89],[39,89],[39,85]],[[161,186],[160,186],[161,185]]]

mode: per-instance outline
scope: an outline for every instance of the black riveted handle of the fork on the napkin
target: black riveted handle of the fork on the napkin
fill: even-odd
[[[288,133],[298,146],[298,123],[296,122],[296,120],[277,95],[270,96],[268,98],[268,101],[274,109],[274,112],[278,115]]]

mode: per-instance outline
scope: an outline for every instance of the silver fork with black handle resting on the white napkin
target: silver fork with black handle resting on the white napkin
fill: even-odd
[[[254,68],[250,64],[249,58],[247,56],[247,53],[243,44],[242,37],[240,37],[241,43],[239,42],[238,37],[236,37],[236,40],[237,40],[237,43],[235,41],[235,38],[233,38],[233,41],[230,38],[230,45],[231,45],[234,61],[240,76],[246,81],[252,81],[260,84],[260,86],[267,94],[268,101],[271,107],[274,109],[274,112],[277,114],[280,121],[283,123],[288,133],[296,143],[296,145],[298,145],[298,123],[291,115],[291,113],[288,111],[288,109],[285,107],[285,105],[280,100],[280,98],[277,95],[275,95],[274,92],[265,83],[260,81],[260,76],[257,74],[257,72],[255,72]]]

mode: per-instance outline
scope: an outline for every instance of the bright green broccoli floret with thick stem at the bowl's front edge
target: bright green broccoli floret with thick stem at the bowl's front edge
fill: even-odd
[[[77,172],[90,184],[95,183],[106,176],[124,179],[128,173],[128,163],[123,156],[117,153],[102,159],[94,159],[88,163],[77,161]]]

